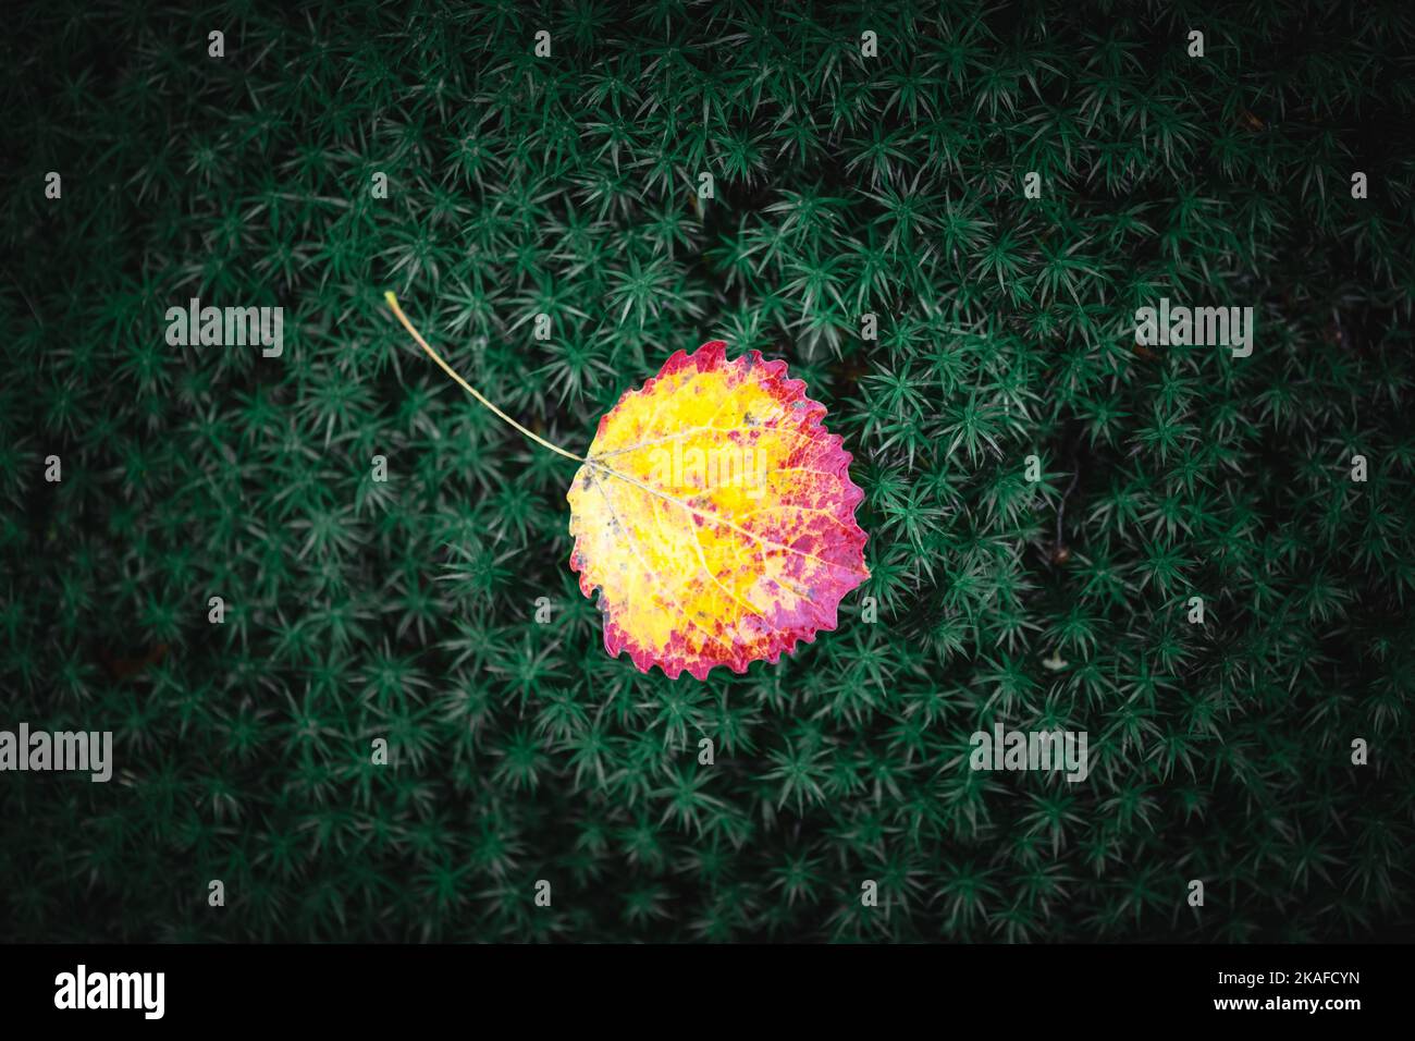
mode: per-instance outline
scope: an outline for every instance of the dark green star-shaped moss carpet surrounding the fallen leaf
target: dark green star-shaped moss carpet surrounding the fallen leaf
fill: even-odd
[[[7,13],[0,724],[117,770],[0,778],[0,936],[1412,935],[1409,6],[763,7]],[[572,450],[787,358],[873,578],[778,667],[610,660],[573,465],[385,289]],[[191,296],[283,357],[168,347]],[[1136,350],[1160,296],[1252,357]],[[969,772],[995,721],[1091,776]]]

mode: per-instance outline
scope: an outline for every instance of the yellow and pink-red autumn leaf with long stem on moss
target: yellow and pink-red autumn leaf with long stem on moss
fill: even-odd
[[[720,340],[678,351],[600,419],[582,457],[473,389],[388,299],[466,391],[582,463],[566,494],[570,567],[586,596],[599,592],[611,656],[627,650],[640,671],[669,677],[743,673],[833,629],[841,599],[869,578],[850,455],[784,361],[729,361]]]

